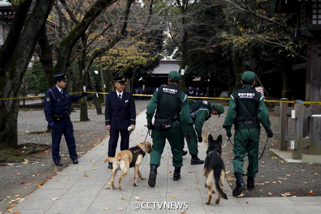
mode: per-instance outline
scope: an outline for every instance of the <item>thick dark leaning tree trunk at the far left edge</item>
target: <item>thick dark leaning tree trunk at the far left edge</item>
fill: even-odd
[[[29,1],[26,1],[29,2]],[[3,60],[7,56],[1,54],[1,70],[0,70],[0,97],[13,98],[19,96],[20,86],[23,81],[24,74],[35,51],[35,46],[39,37],[39,32],[45,25],[49,12],[53,6],[52,0],[38,0],[30,14],[29,21],[24,25],[22,32],[19,32],[19,26],[12,25],[10,31],[15,31],[19,35],[16,45],[8,46],[12,54],[6,61]],[[17,11],[19,14],[19,11]],[[18,17],[18,16],[17,16]],[[15,18],[15,20],[17,19]],[[22,19],[24,20],[24,19]],[[14,21],[14,23],[16,23]],[[12,40],[16,38],[8,37],[6,44],[13,44]],[[4,58],[3,58],[4,57]],[[17,148],[18,131],[17,120],[19,111],[19,99],[1,100],[0,101],[0,144],[1,147]]]

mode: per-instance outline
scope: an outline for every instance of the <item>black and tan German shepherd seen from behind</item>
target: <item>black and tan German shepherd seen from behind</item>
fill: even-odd
[[[212,192],[218,196],[215,200],[216,204],[220,203],[221,197],[227,199],[227,195],[223,192],[225,166],[221,158],[222,152],[222,135],[219,135],[216,140],[212,135],[208,137],[208,149],[206,151],[205,165],[203,168],[203,175],[206,177],[205,188],[208,189],[209,197],[206,204],[209,205],[212,199]]]

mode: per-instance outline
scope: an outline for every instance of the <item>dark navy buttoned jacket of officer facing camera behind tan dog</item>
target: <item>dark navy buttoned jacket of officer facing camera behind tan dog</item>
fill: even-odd
[[[136,108],[134,97],[124,91],[119,101],[116,91],[110,92],[106,97],[105,125],[111,129],[127,129],[129,125],[136,124]]]

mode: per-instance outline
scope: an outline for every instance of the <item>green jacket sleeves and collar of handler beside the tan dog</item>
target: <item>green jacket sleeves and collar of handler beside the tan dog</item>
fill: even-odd
[[[173,84],[173,83],[172,83]],[[172,85],[170,84],[170,85]],[[152,95],[148,105],[147,105],[147,110],[146,110],[146,115],[147,115],[147,122],[151,122],[152,117],[154,116],[155,110],[157,108],[158,104],[158,99],[157,99],[157,94],[158,94],[158,89],[157,88]],[[180,114],[180,121],[186,124],[193,124],[192,118],[190,117],[190,106],[189,102],[187,99],[187,95],[184,92],[181,92],[181,114]]]

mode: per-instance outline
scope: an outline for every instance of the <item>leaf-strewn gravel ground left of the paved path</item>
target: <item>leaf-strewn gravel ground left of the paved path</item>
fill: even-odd
[[[147,104],[147,100],[135,101],[136,114],[141,113]],[[104,112],[104,108],[103,108]],[[71,114],[74,125],[77,153],[82,156],[95,144],[100,143],[107,134],[105,128],[105,116],[97,115],[96,109],[88,110],[90,121],[79,121],[79,109]],[[18,142],[51,144],[51,133],[36,134],[47,129],[43,109],[41,110],[20,110],[18,115]],[[23,198],[35,191],[48,179],[55,176],[62,169],[71,164],[68,148],[64,137],[60,144],[60,155],[63,162],[62,167],[53,164],[51,149],[48,152],[38,154],[38,158],[30,159],[28,163],[14,163],[14,165],[0,166],[0,213],[17,202],[9,203],[11,200]],[[38,185],[38,186],[37,186]],[[3,200],[5,199],[5,200]],[[18,199],[19,200],[19,199]]]

